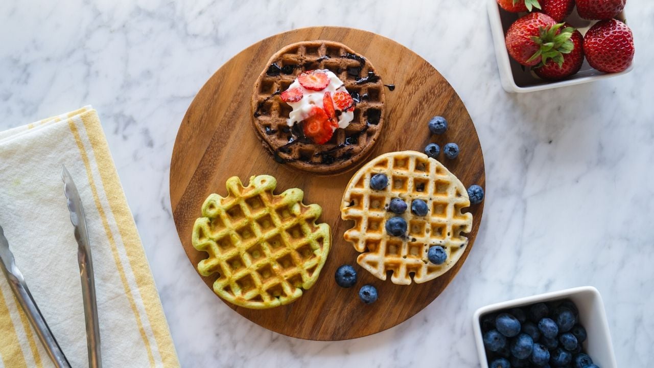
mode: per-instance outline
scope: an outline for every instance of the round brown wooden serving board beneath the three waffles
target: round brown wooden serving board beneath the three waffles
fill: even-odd
[[[485,185],[484,160],[475,126],[466,107],[449,83],[424,59],[375,33],[350,28],[313,27],[280,33],[260,41],[222,65],[193,100],[177,133],[170,170],[170,196],[177,232],[194,267],[207,257],[191,244],[194,221],[211,193],[226,195],[225,181],[234,175],[247,185],[251,175],[269,174],[277,178],[279,194],[288,188],[304,191],[304,203],[322,206],[319,222],[332,227],[332,249],[318,282],[294,303],[268,310],[250,310],[229,304],[233,310],[267,329],[311,340],[354,339],[383,331],[404,322],[431,303],[461,268],[472,249],[482,204],[469,208],[473,215],[470,243],[456,265],[443,276],[424,284],[394,285],[383,282],[356,264],[358,253],[343,240],[343,232],[353,226],[342,221],[339,206],[343,191],[354,170],[320,177],[304,174],[278,164],[261,146],[250,119],[250,98],[254,83],[268,59],[283,46],[298,41],[334,40],[369,58],[386,84],[386,122],[370,158],[391,151],[422,151],[430,142],[441,147],[455,142],[460,155],[441,162],[462,183]],[[427,122],[442,115],[449,130],[431,136]],[[363,162],[356,168],[361,166]],[[358,270],[358,283],[349,289],[334,282],[340,265]],[[211,287],[215,278],[203,277]],[[358,289],[372,284],[379,300],[370,305],[358,298]],[[216,297],[217,298],[217,297]]]

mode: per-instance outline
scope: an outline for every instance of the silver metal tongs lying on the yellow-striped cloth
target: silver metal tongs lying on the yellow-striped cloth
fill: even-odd
[[[90,368],[101,368],[102,361],[100,356],[100,327],[97,321],[97,303],[95,301],[95,280],[93,273],[93,261],[91,258],[91,248],[86,232],[86,217],[84,217],[84,208],[82,200],[73,181],[73,177],[61,166],[61,179],[63,180],[63,193],[67,198],[68,210],[71,213],[71,223],[75,228],[75,240],[77,240],[77,262],[80,269],[80,279],[82,282],[82,299],[84,301],[84,320],[86,322],[86,345],[88,348],[88,365]],[[27,319],[34,327],[39,340],[52,359],[56,367],[71,367],[66,359],[57,340],[52,335],[48,323],[46,323],[37,303],[34,301],[25,279],[16,267],[14,255],[9,249],[9,242],[5,238],[2,227],[0,227],[0,267],[9,281],[12,291],[22,306]]]

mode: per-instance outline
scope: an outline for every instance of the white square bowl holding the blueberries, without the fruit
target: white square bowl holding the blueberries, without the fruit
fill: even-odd
[[[599,367],[617,368],[609,325],[606,320],[606,312],[604,311],[604,303],[602,303],[600,292],[592,286],[553,291],[551,293],[534,295],[533,297],[491,304],[477,309],[472,318],[472,328],[475,333],[475,342],[477,342],[477,352],[479,353],[481,368],[489,368],[483,335],[481,333],[481,316],[519,306],[563,299],[570,299],[576,304],[577,309],[579,309],[579,323],[583,325],[588,333],[588,339],[583,342],[583,350],[591,356],[593,362]]]

